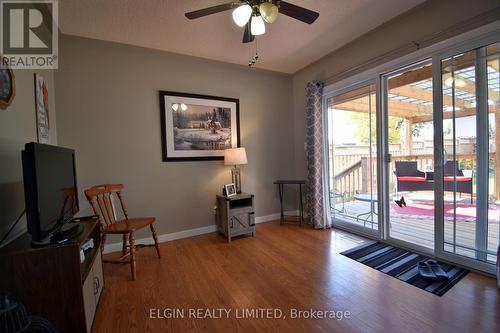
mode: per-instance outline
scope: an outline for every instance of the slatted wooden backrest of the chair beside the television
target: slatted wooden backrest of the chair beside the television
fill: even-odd
[[[104,227],[117,221],[114,196],[116,196],[120,202],[125,219],[128,219],[128,211],[123,201],[122,190],[122,184],[103,184],[92,186],[85,190],[85,196],[94,214],[101,218],[101,223]]]

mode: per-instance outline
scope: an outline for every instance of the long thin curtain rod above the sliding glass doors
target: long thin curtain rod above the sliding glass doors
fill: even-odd
[[[459,22],[457,24],[452,25],[449,28],[427,35],[420,40],[411,41],[386,53],[378,55],[368,61],[353,66],[347,70],[338,72],[330,76],[326,80],[324,80],[325,85],[332,84],[336,81],[345,79],[354,74],[358,74],[367,69],[373,68],[377,65],[384,64],[390,60],[394,60],[398,57],[405,56],[407,54],[410,54],[411,52],[418,51],[421,48],[433,45],[435,43],[448,39],[452,36],[459,35],[461,33],[479,28],[483,25],[495,22],[497,20],[500,20],[500,6],[494,8],[493,10],[490,10],[487,13],[479,14],[469,20]]]

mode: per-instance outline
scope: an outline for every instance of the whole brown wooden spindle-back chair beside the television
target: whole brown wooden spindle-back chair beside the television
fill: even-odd
[[[85,190],[85,196],[94,211],[94,214],[100,217],[101,221],[101,251],[104,249],[104,242],[106,241],[106,235],[108,234],[122,234],[123,235],[123,245],[122,245],[122,256],[118,260],[103,260],[103,262],[108,263],[119,263],[119,264],[130,264],[130,269],[132,272],[132,280],[136,278],[136,268],[135,268],[135,252],[138,247],[154,246],[156,248],[156,253],[158,258],[161,258],[160,248],[158,247],[158,239],[156,236],[155,228],[155,218],[154,217],[141,217],[141,218],[129,218],[127,208],[123,201],[122,196],[123,185],[122,184],[104,184],[93,186]],[[122,220],[117,219],[116,215],[116,205],[114,197],[118,198],[120,206],[122,208],[123,216]],[[135,244],[134,232],[149,226],[151,233],[153,234],[154,244]],[[126,257],[130,257],[129,260],[125,260]]]

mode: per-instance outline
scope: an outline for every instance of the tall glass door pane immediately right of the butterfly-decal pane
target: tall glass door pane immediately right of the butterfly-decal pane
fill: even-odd
[[[472,258],[480,239],[476,60],[472,50],[441,61],[444,250]]]

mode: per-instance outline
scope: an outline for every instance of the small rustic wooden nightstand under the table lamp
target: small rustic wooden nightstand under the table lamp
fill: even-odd
[[[217,230],[231,238],[239,235],[255,236],[253,194],[241,193],[232,197],[217,195]]]

